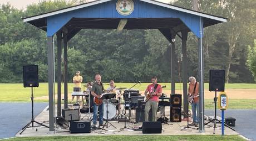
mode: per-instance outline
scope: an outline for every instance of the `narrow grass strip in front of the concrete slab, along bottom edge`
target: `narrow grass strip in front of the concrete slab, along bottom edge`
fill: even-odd
[[[243,138],[239,137],[238,135],[225,135],[221,137],[221,135],[105,135],[105,136],[59,136],[59,137],[22,137],[22,138],[11,138],[11,139],[4,139],[4,140],[60,140],[60,141],[70,141],[70,140],[90,140],[90,141],[103,141],[103,140],[122,140],[122,141],[131,141],[131,140],[161,140],[161,141],[170,141],[170,140],[244,140]]]

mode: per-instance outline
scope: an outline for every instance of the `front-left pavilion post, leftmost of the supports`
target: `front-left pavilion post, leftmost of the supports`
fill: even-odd
[[[49,94],[49,130],[54,130],[54,105],[53,105],[53,77],[54,77],[54,66],[53,66],[53,36],[47,38],[47,54],[48,54],[48,94]]]

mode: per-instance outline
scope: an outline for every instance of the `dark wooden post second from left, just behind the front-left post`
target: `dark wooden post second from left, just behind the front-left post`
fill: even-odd
[[[57,32],[57,116],[61,116],[61,54],[62,32]]]

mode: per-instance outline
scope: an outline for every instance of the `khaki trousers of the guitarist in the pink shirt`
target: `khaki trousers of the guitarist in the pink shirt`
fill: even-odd
[[[158,102],[157,101],[149,100],[149,101],[146,102],[146,105],[145,105],[145,122],[149,121],[149,111],[150,111],[151,108],[152,108],[152,122],[156,121],[157,107],[158,107]]]

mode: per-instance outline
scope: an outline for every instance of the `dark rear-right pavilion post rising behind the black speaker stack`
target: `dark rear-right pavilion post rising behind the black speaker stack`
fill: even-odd
[[[171,30],[171,40],[175,39],[176,33]],[[175,62],[175,41],[171,41],[171,95],[175,94],[175,68],[176,68],[176,62]]]

